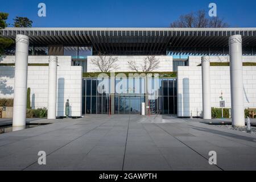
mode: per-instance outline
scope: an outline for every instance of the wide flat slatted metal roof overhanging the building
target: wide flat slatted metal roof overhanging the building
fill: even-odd
[[[256,28],[5,28],[0,35],[27,35],[31,46],[93,47],[100,52],[165,54],[167,49],[228,47],[231,35],[242,35],[244,48],[256,47]]]

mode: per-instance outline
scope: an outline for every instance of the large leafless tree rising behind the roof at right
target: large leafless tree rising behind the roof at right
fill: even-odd
[[[208,18],[205,10],[199,10],[196,13],[181,15],[178,20],[171,23],[173,28],[221,28],[228,27],[224,19],[218,17]]]

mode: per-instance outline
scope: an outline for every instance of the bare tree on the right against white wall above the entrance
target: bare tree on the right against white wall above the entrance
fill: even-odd
[[[128,64],[132,71],[152,72],[159,67],[159,60],[155,56],[147,56],[143,59],[143,64],[141,65],[137,65],[134,60],[128,61]]]

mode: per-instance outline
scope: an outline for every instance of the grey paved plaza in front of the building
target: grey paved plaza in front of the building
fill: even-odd
[[[1,134],[0,170],[256,170],[255,134],[201,121],[100,114],[56,119]],[[46,152],[46,165],[38,164],[39,151]],[[217,165],[209,164],[209,151],[217,152]]]

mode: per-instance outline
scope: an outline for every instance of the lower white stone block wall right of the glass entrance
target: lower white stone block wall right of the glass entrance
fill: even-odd
[[[220,106],[221,91],[225,106],[231,107],[229,67],[210,67],[212,107]],[[256,107],[256,67],[243,67],[245,107]],[[177,102],[178,116],[201,116],[202,83],[201,67],[178,67]]]

